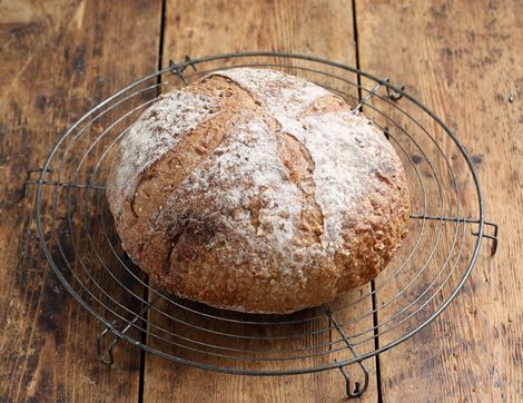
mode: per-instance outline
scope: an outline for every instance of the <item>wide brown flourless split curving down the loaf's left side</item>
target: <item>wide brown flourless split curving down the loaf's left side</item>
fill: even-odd
[[[210,119],[185,135],[175,149],[166,153],[141,175],[135,196],[129,203],[130,214],[127,219],[117,222],[117,225],[120,224],[119,227],[121,227],[119,233],[135,235],[131,235],[130,239],[125,239],[125,244],[129,246],[127,252],[135,263],[141,264],[144,261],[149,261],[150,252],[154,250],[158,255],[158,263],[164,262],[161,265],[157,264],[156,268],[162,272],[169,269],[168,256],[171,255],[170,249],[174,248],[171,239],[167,243],[156,239],[156,246],[152,249],[149,248],[149,253],[145,247],[151,244],[148,233],[149,228],[154,227],[155,217],[161,214],[172,189],[176,189],[200,164],[208,159],[231,131],[230,127],[237,120],[238,108],[241,106],[241,108],[259,109],[254,101],[249,102],[245,94],[231,91],[231,87],[234,85],[226,78],[216,76],[190,88],[191,92],[215,98],[220,105],[219,110]],[[134,216],[132,220],[129,218],[130,215]],[[131,227],[132,230],[129,230]],[[167,247],[160,247],[161,245]]]

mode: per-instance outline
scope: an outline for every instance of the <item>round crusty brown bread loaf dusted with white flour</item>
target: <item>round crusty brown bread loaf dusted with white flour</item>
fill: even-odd
[[[374,278],[406,235],[405,173],[338,96],[236,68],[161,96],[107,184],[122,247],[180,297],[290,313]]]

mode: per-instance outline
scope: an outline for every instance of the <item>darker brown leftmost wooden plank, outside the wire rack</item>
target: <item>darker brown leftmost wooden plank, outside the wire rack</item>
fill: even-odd
[[[0,4],[0,401],[138,400],[140,352],[95,352],[100,324],[51,273],[36,236],[30,168],[97,101],[157,67],[159,2]],[[131,62],[130,62],[131,60]]]

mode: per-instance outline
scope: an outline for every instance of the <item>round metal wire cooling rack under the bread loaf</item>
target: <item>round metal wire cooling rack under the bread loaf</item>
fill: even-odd
[[[375,281],[328,305],[254,315],[177,298],[130,262],[114,229],[105,184],[127,128],[161,92],[239,66],[286,71],[338,94],[383,130],[404,164],[412,198],[407,238]],[[234,53],[171,62],[93,107],[58,140],[43,167],[29,175],[39,176],[27,184],[37,186],[45,254],[63,286],[101,322],[97,351],[108,364],[115,344],[125,340],[165,358],[234,374],[339,368],[347,394],[357,396],[368,382],[364,360],[433,321],[468,277],[482,238],[492,240],[492,253],[497,245],[497,226],[483,216],[474,166],[438,117],[388,79],[302,55]],[[355,389],[346,371],[351,364],[362,371]]]

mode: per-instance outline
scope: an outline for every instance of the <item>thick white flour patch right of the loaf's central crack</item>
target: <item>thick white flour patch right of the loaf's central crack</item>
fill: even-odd
[[[371,121],[354,115],[342,99],[342,110],[314,110],[315,102],[334,95],[312,82],[249,68],[214,75],[227,77],[248,90],[267,107],[282,131],[307,148],[315,163],[315,191],[325,217],[326,240],[339,243],[346,210],[354,209],[362,194],[368,191],[368,173],[383,170],[382,165],[386,164],[386,159],[375,158],[376,150],[387,147],[394,156],[392,146],[383,139],[377,141]]]

